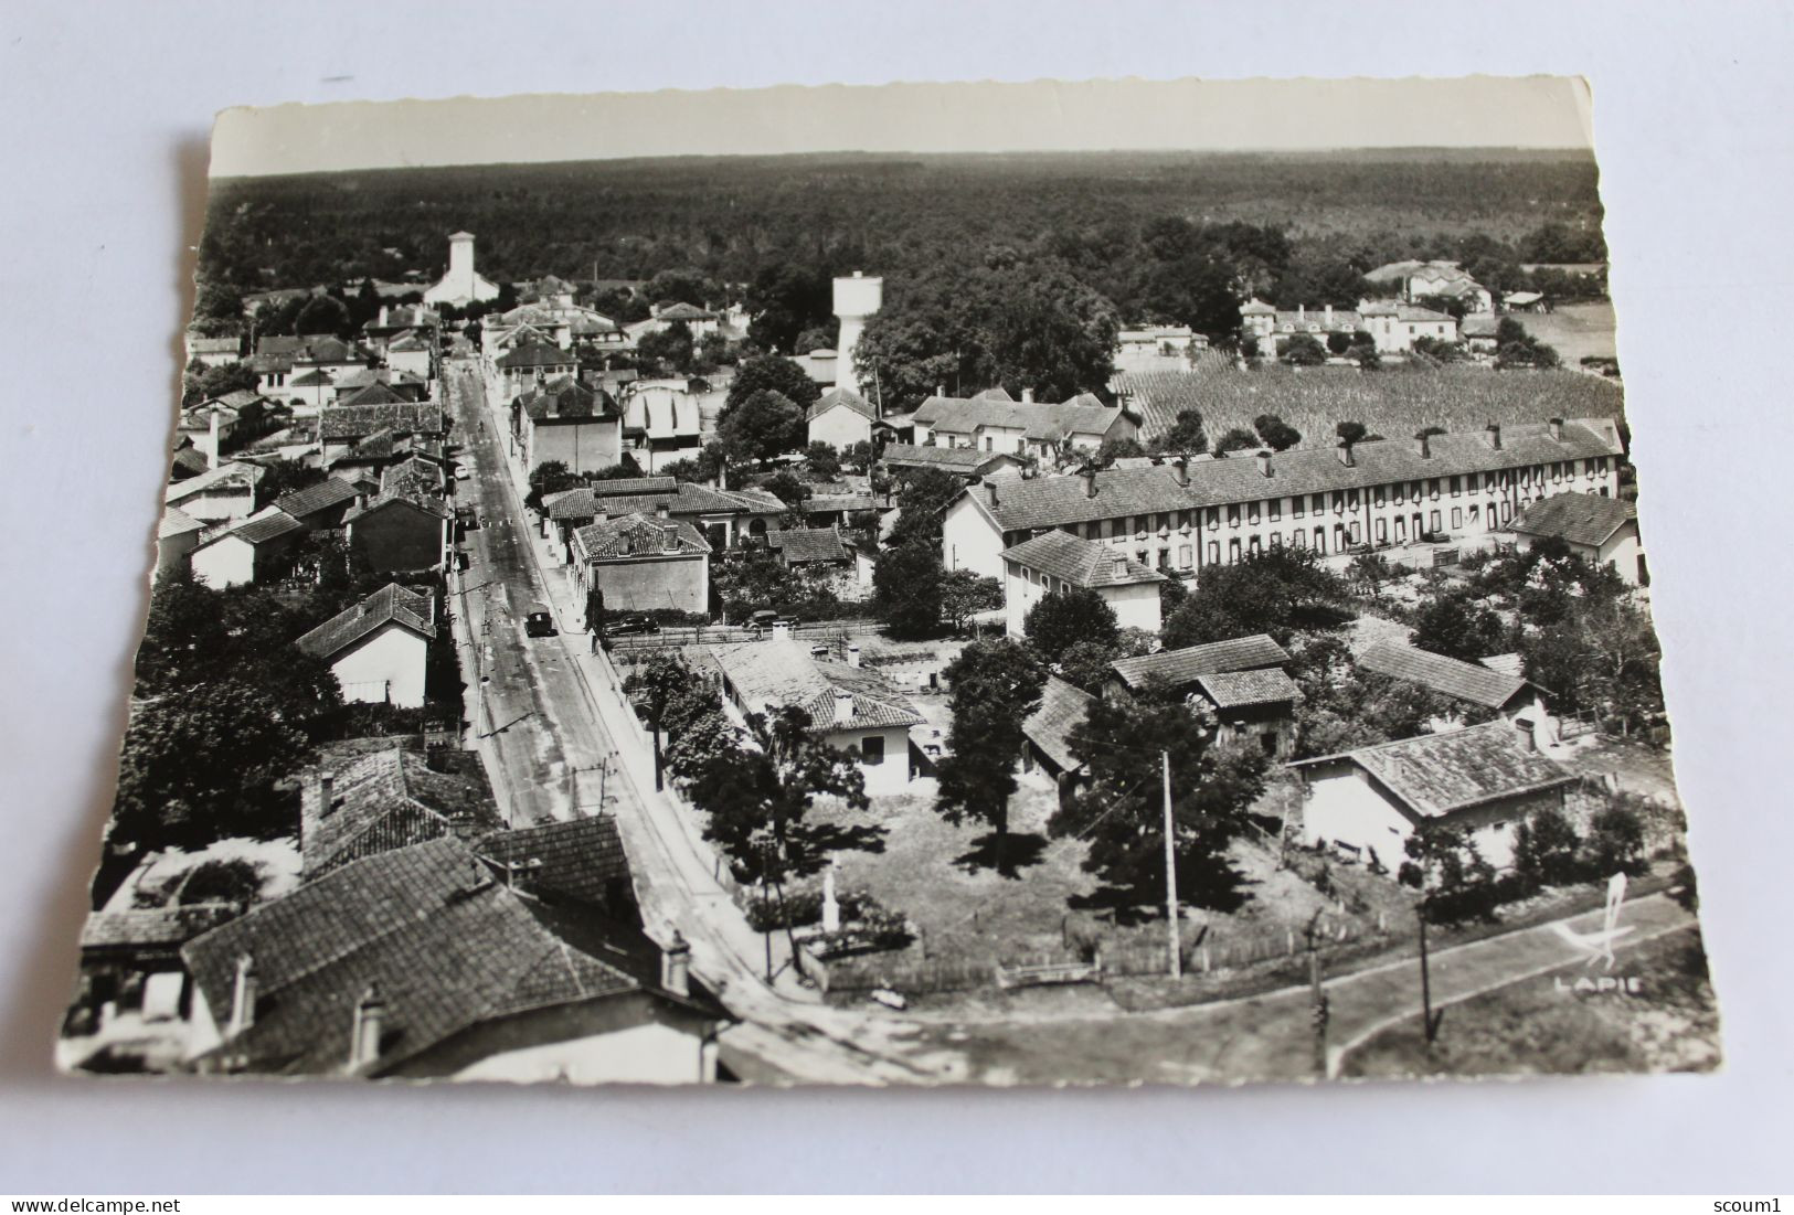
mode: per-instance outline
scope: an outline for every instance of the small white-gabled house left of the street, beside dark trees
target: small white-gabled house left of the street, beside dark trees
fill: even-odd
[[[420,708],[434,638],[434,597],[388,582],[303,634],[296,645],[330,663],[344,701]]]

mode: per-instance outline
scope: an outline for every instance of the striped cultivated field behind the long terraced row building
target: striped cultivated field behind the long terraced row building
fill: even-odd
[[[1195,409],[1211,443],[1234,427],[1252,430],[1259,414],[1276,414],[1302,434],[1301,446],[1331,446],[1342,421],[1363,423],[1385,439],[1406,439],[1423,427],[1480,430],[1489,421],[1618,418],[1624,405],[1616,383],[1581,371],[1277,364],[1236,371],[1211,360],[1191,373],[1123,376],[1121,385],[1132,391],[1130,405],[1141,414],[1141,439],[1164,434],[1180,410]]]

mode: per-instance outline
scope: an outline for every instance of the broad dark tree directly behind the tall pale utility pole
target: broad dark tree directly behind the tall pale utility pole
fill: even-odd
[[[1238,907],[1227,846],[1265,788],[1261,749],[1220,745],[1213,715],[1157,681],[1127,697],[1098,697],[1073,728],[1069,747],[1087,780],[1048,830],[1089,840],[1084,867],[1102,875],[1110,901],[1164,905],[1161,756],[1170,756],[1179,898],[1216,910]]]

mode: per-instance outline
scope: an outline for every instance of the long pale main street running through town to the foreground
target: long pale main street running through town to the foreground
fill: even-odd
[[[486,409],[477,364],[450,360],[445,391],[472,453],[461,502],[479,527],[463,573],[465,625],[479,686],[475,737],[501,801],[517,824],[614,814],[635,880],[642,923],[655,937],[678,930],[692,964],[741,1018],[723,1034],[723,1056],[745,1079],[773,1082],[917,1082],[954,1079],[951,1052],[926,1048],[895,1018],[831,1009],[797,984],[788,952],[746,925],[721,882],[714,851],[673,799],[653,790],[640,733],[615,672],[579,633],[560,572],[545,568],[529,538],[511,480],[499,414]],[[463,457],[465,459],[465,457]],[[527,638],[522,618],[553,611],[560,633]],[[463,647],[463,654],[468,647]],[[617,740],[623,745],[617,745]],[[603,805],[599,805],[603,797]],[[773,950],[777,986],[762,968]]]

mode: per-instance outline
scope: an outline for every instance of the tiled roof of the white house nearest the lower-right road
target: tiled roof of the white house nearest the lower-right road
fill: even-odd
[[[1340,760],[1367,771],[1423,819],[1575,781],[1570,769],[1534,751],[1505,720],[1302,760],[1301,765]]]

